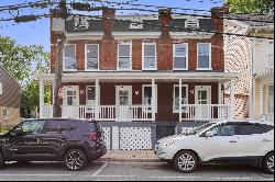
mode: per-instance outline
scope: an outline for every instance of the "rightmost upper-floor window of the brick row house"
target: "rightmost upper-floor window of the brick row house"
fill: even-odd
[[[197,69],[209,70],[211,68],[211,44],[199,43],[198,44],[198,62]]]

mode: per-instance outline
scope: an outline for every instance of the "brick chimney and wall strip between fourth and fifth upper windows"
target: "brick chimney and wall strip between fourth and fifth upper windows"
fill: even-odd
[[[170,9],[160,10],[158,21],[162,25],[162,35],[157,39],[157,69],[173,70],[173,41],[169,35]]]

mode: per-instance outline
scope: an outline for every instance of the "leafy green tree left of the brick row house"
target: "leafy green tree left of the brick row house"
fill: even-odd
[[[42,46],[18,45],[0,36],[0,65],[21,84],[21,116],[30,117],[40,105],[40,86],[35,73],[48,72],[50,54]],[[50,86],[45,87],[45,103],[50,102]]]

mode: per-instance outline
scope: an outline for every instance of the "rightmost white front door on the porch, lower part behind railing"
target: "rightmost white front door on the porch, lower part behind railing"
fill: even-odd
[[[195,87],[196,118],[211,118],[211,86]]]

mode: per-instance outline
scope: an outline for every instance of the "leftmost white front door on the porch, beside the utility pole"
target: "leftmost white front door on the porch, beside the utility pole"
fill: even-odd
[[[64,87],[63,117],[79,117],[79,90],[78,86]]]

